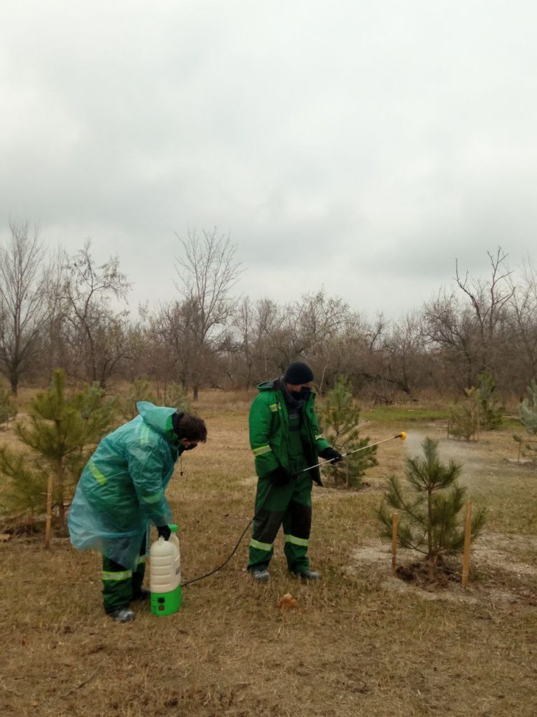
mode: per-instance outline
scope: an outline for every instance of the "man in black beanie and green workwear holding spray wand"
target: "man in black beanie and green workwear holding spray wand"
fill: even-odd
[[[269,580],[274,539],[284,527],[289,572],[317,580],[308,558],[311,530],[311,488],[321,483],[318,457],[337,462],[342,454],[319,431],[311,393],[313,372],[302,361],[284,376],[258,385],[250,409],[250,445],[258,475],[255,517],[249,546],[248,571],[256,581]]]

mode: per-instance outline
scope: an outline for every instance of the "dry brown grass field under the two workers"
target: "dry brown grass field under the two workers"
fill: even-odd
[[[183,580],[220,564],[251,518],[249,399],[201,397],[209,440],[168,490]],[[185,587],[180,612],[144,606],[117,625],[102,612],[100,556],[64,538],[50,551],[40,536],[0,543],[0,715],[535,717],[537,470],[509,460],[512,427],[457,442],[442,420],[413,412],[364,412],[372,441],[409,434],[379,447],[364,490],[314,488],[319,584],[288,576],[281,543],[269,584],[252,584],[245,537],[222,571]],[[392,578],[378,538],[384,478],[426,435],[463,462],[470,497],[489,509],[467,590]],[[286,593],[296,609],[279,609]]]

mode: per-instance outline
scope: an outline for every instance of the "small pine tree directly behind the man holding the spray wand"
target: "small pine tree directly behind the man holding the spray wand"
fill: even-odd
[[[365,449],[348,455],[342,462],[323,467],[334,485],[359,488],[367,468],[377,465],[377,446],[366,448],[369,438],[359,437],[360,407],[346,376],[340,376],[334,388],[326,394],[324,406],[319,409],[319,422],[326,440],[342,453]]]

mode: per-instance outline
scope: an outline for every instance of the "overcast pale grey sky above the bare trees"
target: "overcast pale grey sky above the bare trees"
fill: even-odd
[[[173,296],[188,227],[237,292],[399,315],[537,237],[537,4],[1,0],[0,237],[39,222]]]

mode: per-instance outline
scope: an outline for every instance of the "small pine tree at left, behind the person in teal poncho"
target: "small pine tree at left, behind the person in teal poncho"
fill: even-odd
[[[41,391],[29,407],[28,424],[18,423],[15,430],[25,445],[32,448],[34,457],[26,463],[4,454],[0,471],[11,480],[16,492],[20,485],[21,467],[24,465],[29,483],[37,484],[39,476],[47,475],[47,546],[53,508],[57,508],[60,530],[65,530],[65,499],[67,492],[77,483],[80,469],[89,449],[104,435],[115,415],[115,399],[103,401],[104,391],[98,384],[86,386],[68,396],[65,391],[64,372],[52,372],[47,391]],[[19,493],[19,500],[23,495]],[[28,509],[33,510],[32,505]]]

